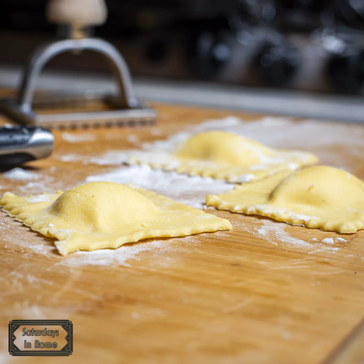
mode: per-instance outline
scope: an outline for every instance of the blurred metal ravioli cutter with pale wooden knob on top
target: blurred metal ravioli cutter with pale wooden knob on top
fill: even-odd
[[[103,39],[86,37],[88,28],[106,20],[106,5],[103,0],[50,0],[47,17],[53,23],[68,27],[71,38],[46,43],[33,52],[17,97],[0,99],[0,111],[15,122],[49,128],[123,126],[136,123],[143,125],[155,122],[157,112],[138,103],[135,98],[128,66],[119,51]],[[33,94],[44,66],[61,53],[77,54],[81,51],[98,52],[106,59],[118,85],[118,96],[105,95],[98,98],[98,101],[107,106],[98,111],[35,112]],[[58,104],[64,106],[62,100]],[[57,109],[58,104],[54,102]]]

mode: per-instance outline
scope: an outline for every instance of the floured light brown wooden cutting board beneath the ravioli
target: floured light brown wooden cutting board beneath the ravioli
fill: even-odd
[[[259,117],[156,107],[159,135],[151,134],[153,127],[67,131],[91,135],[70,143],[62,138],[64,131],[55,131],[52,157],[28,165],[28,171],[42,175],[41,181],[0,174],[0,193],[67,189],[88,175],[116,168],[62,161],[62,155],[86,158],[139,147],[210,118]],[[5,122],[9,120],[1,119]],[[343,128],[364,133],[364,126]],[[340,156],[343,167],[364,179],[364,148],[326,143],[312,151],[321,153],[323,164]],[[122,261],[106,254],[102,264],[78,264],[79,256],[60,256],[53,239],[1,212],[0,362],[363,363],[364,231],[336,241],[339,235],[332,232],[281,224],[278,233],[265,236],[264,222],[270,228],[274,224],[269,219],[207,211],[230,219],[233,229],[163,239],[155,249],[153,241],[124,246]],[[333,238],[334,249],[315,243],[324,238]],[[290,239],[313,245],[291,244]],[[15,319],[71,320],[72,355],[9,356],[8,323]]]

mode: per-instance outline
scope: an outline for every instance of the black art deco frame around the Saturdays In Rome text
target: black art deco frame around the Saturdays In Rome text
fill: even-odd
[[[67,344],[60,350],[20,350],[14,341],[14,332],[21,325],[60,325],[66,330]],[[9,322],[9,353],[13,356],[69,356],[73,351],[73,325],[70,320],[12,320]]]

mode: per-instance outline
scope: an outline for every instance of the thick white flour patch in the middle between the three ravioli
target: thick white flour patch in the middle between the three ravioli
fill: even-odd
[[[85,182],[96,181],[132,183],[198,209],[205,204],[207,195],[223,193],[234,188],[232,183],[220,179],[189,177],[175,172],[151,169],[147,165],[121,167],[109,173],[91,175]]]

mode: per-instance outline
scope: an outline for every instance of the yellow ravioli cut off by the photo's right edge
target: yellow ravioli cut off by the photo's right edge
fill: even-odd
[[[208,195],[206,204],[341,234],[364,229],[364,182],[327,166],[281,171],[223,194]]]

